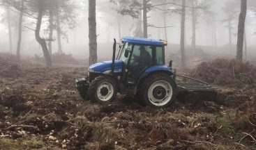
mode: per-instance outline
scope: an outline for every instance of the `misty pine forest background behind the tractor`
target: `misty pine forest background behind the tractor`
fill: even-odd
[[[255,1],[248,0],[244,49],[255,47]],[[179,51],[182,5],[184,4],[184,44],[189,49],[214,47],[221,55],[235,55],[240,1],[234,0],[98,0],[96,40],[98,58],[108,58],[114,38],[123,36],[167,40],[169,51]],[[89,55],[89,1],[2,0],[0,3],[0,51],[18,56],[43,56],[36,41],[38,11],[42,8],[40,38],[50,53]],[[144,18],[146,12],[146,19]],[[211,50],[211,48],[205,50]],[[96,51],[96,49],[93,49]],[[246,57],[246,56],[245,56]]]

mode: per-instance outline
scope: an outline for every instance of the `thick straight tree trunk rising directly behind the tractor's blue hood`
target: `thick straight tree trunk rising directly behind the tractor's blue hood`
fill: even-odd
[[[96,0],[89,1],[89,64],[97,63]]]

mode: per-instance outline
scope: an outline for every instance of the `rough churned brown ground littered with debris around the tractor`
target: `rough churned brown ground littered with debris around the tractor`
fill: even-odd
[[[222,103],[187,94],[155,109],[118,95],[102,106],[75,89],[84,67],[46,69],[3,57],[0,66],[0,149],[256,149],[255,83],[247,80],[225,83]]]

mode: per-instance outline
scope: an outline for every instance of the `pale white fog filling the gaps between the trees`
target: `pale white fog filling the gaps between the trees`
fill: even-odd
[[[233,0],[234,1],[234,0]],[[200,2],[200,1],[199,1]],[[209,20],[209,16],[206,12],[199,12],[197,15],[196,24],[196,45],[197,47],[209,46],[215,47],[214,34],[216,33],[216,49],[225,47],[229,44],[229,29],[227,28],[228,14],[224,11],[229,1],[223,0],[204,0],[206,3],[206,9],[212,12],[212,20]],[[76,22],[75,28],[68,28],[65,22],[61,24],[61,31],[66,35],[61,35],[61,44],[64,53],[72,53],[75,58],[87,59],[89,56],[89,26],[88,26],[88,1],[75,1],[73,0],[73,19]],[[161,3],[161,1],[152,0],[150,3],[154,5]],[[181,1],[174,1],[174,3],[181,3]],[[240,3],[238,3],[240,4]],[[248,1],[248,13],[246,17],[246,40],[247,47],[255,47],[256,41],[256,16],[253,9],[250,9],[254,2]],[[190,1],[187,1],[188,8],[186,9],[186,33],[185,42],[189,47],[192,40],[192,17]],[[134,36],[137,18],[130,17],[129,15],[120,15],[115,10],[115,4],[109,0],[97,0],[96,1],[96,31],[97,31],[97,42],[98,42],[98,58],[105,58],[110,56],[112,51],[113,38],[120,39],[118,30],[118,20],[116,16],[119,16],[121,24],[121,37],[123,36]],[[158,8],[163,7],[159,6]],[[181,9],[180,6],[174,6],[172,4],[166,5],[165,7],[170,9]],[[17,31],[18,31],[18,18],[19,10],[15,10],[13,6],[10,8],[10,26],[11,26],[11,38],[13,54],[16,53],[17,47]],[[199,8],[201,9],[201,8]],[[232,19],[232,44],[236,45],[237,42],[237,24],[239,19],[240,6],[237,8],[229,8],[230,11],[236,11],[234,19]],[[233,9],[233,10],[232,10]],[[163,11],[156,8],[152,8],[147,12],[148,24],[153,26],[163,27]],[[36,16],[36,14],[35,14]],[[40,35],[42,38],[49,36],[48,29],[49,17],[45,15],[41,26]],[[214,28],[213,23],[216,24]],[[143,23],[142,23],[143,24]],[[167,40],[170,46],[180,43],[181,36],[181,15],[180,12],[167,12],[166,14],[166,28],[167,39],[165,39],[165,28],[153,28],[148,27],[149,38]],[[172,26],[172,27],[169,27]],[[36,19],[28,17],[27,15],[23,18],[22,24],[22,44],[21,44],[21,56],[42,56],[43,51],[40,48],[40,44],[36,42],[35,30]],[[216,32],[215,32],[216,30]],[[8,39],[8,22],[6,19],[6,6],[0,6],[0,52],[10,52],[9,39]],[[52,53],[56,53],[58,49],[57,45],[57,32],[53,33],[52,42]],[[232,51],[236,52],[236,47]],[[170,51],[178,51],[179,49],[170,48]],[[225,51],[225,50],[223,50]]]

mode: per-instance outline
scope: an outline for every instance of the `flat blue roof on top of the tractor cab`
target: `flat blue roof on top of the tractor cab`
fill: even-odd
[[[133,44],[145,44],[145,45],[156,45],[156,46],[164,46],[165,41],[163,40],[153,40],[148,38],[134,38],[134,37],[123,37],[121,39],[122,42],[129,42]]]

